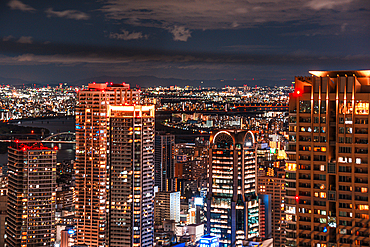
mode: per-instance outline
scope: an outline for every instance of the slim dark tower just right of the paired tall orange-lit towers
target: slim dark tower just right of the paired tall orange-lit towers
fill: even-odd
[[[155,186],[159,191],[174,191],[175,136],[157,132],[154,146]]]

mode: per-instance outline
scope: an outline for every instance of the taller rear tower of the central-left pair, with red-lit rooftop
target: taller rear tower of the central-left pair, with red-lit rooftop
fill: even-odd
[[[106,239],[108,107],[137,103],[139,92],[125,83],[91,83],[77,98],[77,244],[100,247]]]

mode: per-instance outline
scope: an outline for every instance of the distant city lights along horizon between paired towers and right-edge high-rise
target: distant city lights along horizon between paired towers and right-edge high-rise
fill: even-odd
[[[281,87],[149,87],[142,95],[156,103],[157,111],[171,112],[216,112],[234,110],[239,105],[286,105],[291,86]]]

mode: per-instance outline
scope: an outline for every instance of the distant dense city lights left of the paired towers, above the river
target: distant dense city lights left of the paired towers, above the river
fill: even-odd
[[[76,88],[64,84],[42,88],[0,85],[0,98],[0,121],[75,114]]]

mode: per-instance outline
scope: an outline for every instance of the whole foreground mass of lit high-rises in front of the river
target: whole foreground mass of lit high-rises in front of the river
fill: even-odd
[[[11,144],[0,245],[369,246],[370,72],[311,74],[288,114],[194,143],[156,132],[127,84],[89,84],[74,162]]]

